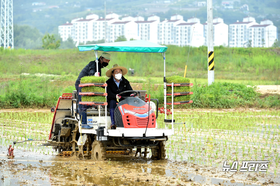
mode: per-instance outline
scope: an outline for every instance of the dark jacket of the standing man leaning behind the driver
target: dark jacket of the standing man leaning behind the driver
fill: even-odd
[[[101,68],[103,68],[103,66],[100,63],[100,60],[98,59],[98,72],[99,75],[101,76]],[[75,85],[80,84],[81,78],[85,77],[85,76],[94,76],[95,72],[97,72],[96,70],[96,62],[95,61],[90,61],[90,63],[88,63],[88,65],[85,66],[85,68],[83,68],[83,70],[80,72]]]

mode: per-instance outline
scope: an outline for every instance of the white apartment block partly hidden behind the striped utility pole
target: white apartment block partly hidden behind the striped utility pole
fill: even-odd
[[[207,46],[207,22],[204,25],[204,45]],[[213,45],[228,46],[228,25],[220,17],[213,18]]]

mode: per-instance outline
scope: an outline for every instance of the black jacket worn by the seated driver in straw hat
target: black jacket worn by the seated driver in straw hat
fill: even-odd
[[[132,91],[129,81],[127,81],[125,77],[122,76],[122,81],[120,81],[119,88],[117,84],[114,82],[113,78],[114,78],[113,75],[111,75],[111,78],[106,81],[107,93],[108,93],[107,102],[110,102],[111,100],[117,100],[116,95],[123,91]],[[122,96],[130,96],[130,94],[131,93],[128,93]]]

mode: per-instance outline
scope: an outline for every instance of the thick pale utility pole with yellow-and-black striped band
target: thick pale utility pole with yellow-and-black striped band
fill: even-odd
[[[213,2],[207,0],[208,85],[214,82]]]

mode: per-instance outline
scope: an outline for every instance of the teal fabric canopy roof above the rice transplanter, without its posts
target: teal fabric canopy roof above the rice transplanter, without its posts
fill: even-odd
[[[79,51],[99,50],[104,52],[166,52],[167,46],[145,40],[108,42],[78,46]]]

